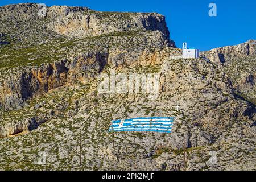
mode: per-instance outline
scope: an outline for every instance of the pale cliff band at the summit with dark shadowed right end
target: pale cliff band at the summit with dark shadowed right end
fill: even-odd
[[[48,24],[48,29],[57,34],[83,38],[110,32],[136,30],[161,31],[169,39],[169,31],[163,15],[151,13],[105,13],[88,11],[73,13],[56,18]]]

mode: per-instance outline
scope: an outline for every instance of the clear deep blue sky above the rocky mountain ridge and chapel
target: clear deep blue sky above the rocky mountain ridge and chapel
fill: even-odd
[[[256,39],[255,0],[0,0],[0,6],[24,2],[86,6],[99,11],[157,12],[166,16],[177,47],[187,42],[201,51]],[[211,2],[217,5],[217,17],[208,15]]]

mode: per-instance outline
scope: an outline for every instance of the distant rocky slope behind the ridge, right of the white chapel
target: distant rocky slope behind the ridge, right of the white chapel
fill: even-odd
[[[215,61],[223,72],[229,74],[234,88],[255,103],[255,40],[249,40],[237,46],[215,48],[205,52],[204,56]]]

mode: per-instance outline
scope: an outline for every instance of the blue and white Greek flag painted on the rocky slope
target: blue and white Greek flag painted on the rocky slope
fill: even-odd
[[[171,133],[174,118],[151,117],[113,120],[109,127],[112,131],[154,131]]]

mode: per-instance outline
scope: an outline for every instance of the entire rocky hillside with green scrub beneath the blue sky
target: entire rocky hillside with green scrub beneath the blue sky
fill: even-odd
[[[255,40],[171,59],[181,50],[160,14],[0,12],[0,169],[256,169]],[[98,93],[113,71],[159,73],[159,96]],[[176,117],[172,133],[108,132],[153,116]]]

